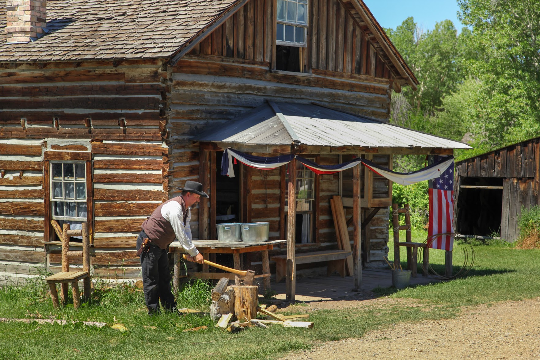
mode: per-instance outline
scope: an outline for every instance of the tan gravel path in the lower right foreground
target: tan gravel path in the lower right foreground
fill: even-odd
[[[540,298],[481,305],[465,310],[457,319],[397,324],[284,357],[367,358],[540,359]]]

